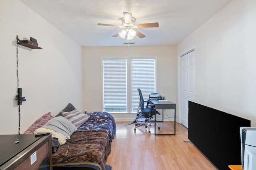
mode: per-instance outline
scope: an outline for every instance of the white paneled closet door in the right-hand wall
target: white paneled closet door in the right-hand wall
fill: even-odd
[[[195,51],[181,57],[181,123],[188,128],[188,100],[195,100]]]

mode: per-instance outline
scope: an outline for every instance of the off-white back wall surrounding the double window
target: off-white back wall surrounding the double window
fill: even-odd
[[[157,92],[176,102],[176,47],[83,47],[84,108],[102,110],[102,57],[157,57]],[[134,114],[112,114],[116,121],[134,121]]]

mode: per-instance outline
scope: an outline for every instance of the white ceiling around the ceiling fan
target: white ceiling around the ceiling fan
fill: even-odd
[[[232,0],[20,0],[81,46],[127,46],[120,36],[123,12],[132,13],[135,24],[158,22],[159,27],[140,28],[130,46],[177,45]]]

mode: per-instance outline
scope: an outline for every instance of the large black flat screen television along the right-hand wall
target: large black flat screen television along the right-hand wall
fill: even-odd
[[[188,102],[188,139],[219,170],[241,165],[240,127],[251,127],[251,121]]]

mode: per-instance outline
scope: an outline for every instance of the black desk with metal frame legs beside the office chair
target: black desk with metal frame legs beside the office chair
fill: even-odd
[[[162,121],[164,121],[164,109],[174,109],[174,133],[168,134],[156,134],[156,126],[155,126],[155,135],[176,135],[176,104],[173,102],[161,102],[161,100],[151,100],[150,102],[154,104],[155,109],[162,109]],[[156,115],[155,115],[155,125],[156,125]]]

